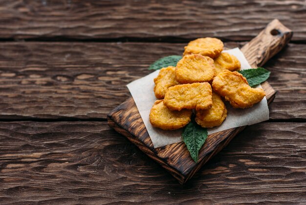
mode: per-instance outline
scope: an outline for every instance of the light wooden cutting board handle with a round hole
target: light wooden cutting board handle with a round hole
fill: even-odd
[[[279,20],[270,22],[258,36],[241,48],[252,68],[261,67],[291,40],[293,32]]]

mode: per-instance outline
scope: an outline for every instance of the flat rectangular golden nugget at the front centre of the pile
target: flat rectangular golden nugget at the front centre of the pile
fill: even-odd
[[[209,83],[183,84],[170,87],[164,104],[170,110],[206,110],[213,105],[212,88]]]

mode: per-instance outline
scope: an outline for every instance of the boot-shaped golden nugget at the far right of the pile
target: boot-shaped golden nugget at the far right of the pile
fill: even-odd
[[[261,88],[251,88],[239,72],[223,70],[213,80],[213,90],[234,108],[250,108],[265,96]]]

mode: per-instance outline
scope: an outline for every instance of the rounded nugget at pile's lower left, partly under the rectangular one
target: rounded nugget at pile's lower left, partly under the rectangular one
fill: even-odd
[[[163,130],[176,130],[184,127],[190,122],[192,110],[171,111],[163,103],[163,100],[156,100],[151,112],[150,122],[153,127]]]

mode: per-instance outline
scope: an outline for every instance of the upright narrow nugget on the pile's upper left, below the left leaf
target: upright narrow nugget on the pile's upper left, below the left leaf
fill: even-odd
[[[154,78],[154,83],[156,98],[163,99],[168,88],[179,84],[175,79],[175,67],[169,66],[167,68],[161,68],[158,76]]]

